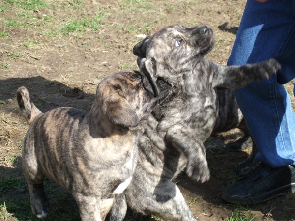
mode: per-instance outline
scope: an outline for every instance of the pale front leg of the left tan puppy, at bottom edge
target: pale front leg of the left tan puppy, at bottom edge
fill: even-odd
[[[82,221],[102,221],[100,216],[100,197],[75,193],[74,198],[78,204]]]

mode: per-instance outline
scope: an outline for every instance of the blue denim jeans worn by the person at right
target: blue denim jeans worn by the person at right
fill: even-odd
[[[282,69],[236,90],[236,100],[259,150],[257,160],[272,167],[295,165],[295,114],[282,85],[295,78],[295,0],[246,3],[228,65],[271,57]]]

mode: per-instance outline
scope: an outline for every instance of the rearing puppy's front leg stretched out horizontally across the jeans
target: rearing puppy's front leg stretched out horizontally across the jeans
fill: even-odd
[[[281,69],[281,65],[275,59],[269,59],[256,64],[242,66],[211,65],[216,70],[214,73],[213,86],[228,89],[238,89],[251,82],[259,82],[268,79],[272,74]]]

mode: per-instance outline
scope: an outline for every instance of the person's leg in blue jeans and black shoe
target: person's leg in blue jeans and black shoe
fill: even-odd
[[[256,63],[271,57],[282,69],[261,83],[236,90],[263,162],[228,186],[222,197],[231,203],[253,204],[295,191],[295,115],[280,83],[295,77],[295,0],[248,0],[228,65]]]

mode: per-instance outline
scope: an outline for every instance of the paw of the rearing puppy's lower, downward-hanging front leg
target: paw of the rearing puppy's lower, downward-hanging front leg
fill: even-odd
[[[186,166],[186,174],[195,181],[204,183],[210,179],[210,170],[207,161],[200,162],[200,160],[189,162]]]

